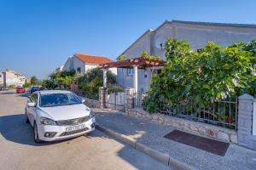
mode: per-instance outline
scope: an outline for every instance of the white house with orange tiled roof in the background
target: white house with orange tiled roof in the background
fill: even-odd
[[[103,56],[96,56],[90,54],[73,54],[72,57],[69,57],[67,59],[67,62],[63,66],[62,71],[74,70],[77,74],[84,75],[86,71],[89,71],[92,68],[96,68],[101,64],[109,63],[112,61],[113,60]],[[117,74],[116,68],[112,68],[109,70],[112,71],[113,74]]]

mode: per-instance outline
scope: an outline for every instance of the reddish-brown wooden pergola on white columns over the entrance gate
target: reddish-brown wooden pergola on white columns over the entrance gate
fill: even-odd
[[[103,87],[107,88],[107,70],[108,68],[133,68],[133,88],[137,92],[137,69],[145,69],[148,67],[164,66],[165,61],[161,59],[148,59],[144,57],[113,61],[100,65],[103,69]]]

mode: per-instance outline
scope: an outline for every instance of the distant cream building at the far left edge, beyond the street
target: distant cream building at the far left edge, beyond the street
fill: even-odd
[[[3,71],[3,86],[22,86],[26,83],[26,76],[16,71]]]

